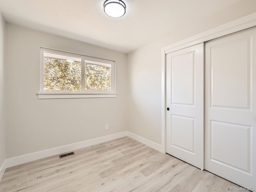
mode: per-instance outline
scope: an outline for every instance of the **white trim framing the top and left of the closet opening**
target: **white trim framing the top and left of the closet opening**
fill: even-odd
[[[233,20],[226,24],[212,28],[200,34],[191,36],[184,40],[175,42],[162,48],[162,80],[161,80],[161,130],[162,130],[162,150],[166,153],[166,54],[174,52],[189,46],[206,42],[221,36],[238,32],[250,27],[256,26],[256,12],[239,19]]]

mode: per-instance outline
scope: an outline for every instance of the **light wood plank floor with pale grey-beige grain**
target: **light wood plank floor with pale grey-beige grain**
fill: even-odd
[[[7,168],[0,192],[225,192],[236,184],[129,137]]]

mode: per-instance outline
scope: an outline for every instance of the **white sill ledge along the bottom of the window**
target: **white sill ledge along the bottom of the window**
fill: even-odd
[[[117,93],[103,93],[103,94],[84,94],[84,93],[51,93],[39,92],[38,99],[66,99],[66,98],[110,98],[116,97]]]

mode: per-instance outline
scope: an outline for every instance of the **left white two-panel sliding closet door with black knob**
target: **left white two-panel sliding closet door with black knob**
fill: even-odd
[[[166,152],[204,169],[204,44],[166,54]]]

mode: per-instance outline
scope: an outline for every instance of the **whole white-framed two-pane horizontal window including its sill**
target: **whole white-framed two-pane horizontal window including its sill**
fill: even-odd
[[[116,97],[114,61],[46,48],[40,59],[39,99]]]

